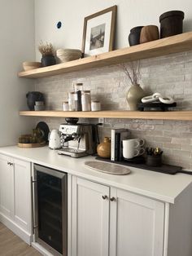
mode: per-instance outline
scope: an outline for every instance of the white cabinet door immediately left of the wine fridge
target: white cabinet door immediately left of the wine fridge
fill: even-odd
[[[32,223],[31,164],[14,159],[14,220],[31,233]]]

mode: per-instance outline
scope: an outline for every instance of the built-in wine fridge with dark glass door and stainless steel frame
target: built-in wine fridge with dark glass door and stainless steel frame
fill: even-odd
[[[47,175],[46,175],[47,174]],[[40,197],[41,200],[39,199],[39,195],[38,195],[38,191],[40,191],[40,179],[38,179],[39,175],[45,175],[45,177],[49,177],[49,179],[52,179],[51,176],[53,176],[53,179],[59,179],[59,183],[61,184],[61,190],[59,190],[61,192],[61,213],[62,213],[62,226],[60,226],[62,228],[61,232],[59,231],[59,226],[55,226],[55,223],[49,223],[50,227],[54,228],[54,231],[52,233],[48,233],[47,229],[45,227],[41,227],[41,218],[42,216],[38,216],[38,214],[41,214],[40,210],[45,210],[44,208],[40,207],[40,209],[38,209],[38,205],[42,204],[42,196]],[[41,177],[41,176],[40,176]],[[55,178],[54,178],[55,177]],[[54,255],[64,255],[67,256],[68,255],[68,204],[67,204],[67,174],[63,173],[63,172],[59,172],[58,170],[53,170],[50,168],[46,168],[44,166],[38,166],[38,165],[34,165],[34,180],[33,180],[33,189],[34,189],[34,221],[33,221],[33,228],[34,228],[34,237],[35,237],[35,241],[37,241],[37,243],[39,243],[40,245],[42,245],[44,248],[46,248],[47,250],[50,251],[51,254]],[[38,187],[39,186],[39,187]],[[51,192],[53,192],[53,186],[49,183],[47,185],[47,190],[50,189],[50,192],[48,192],[48,194],[50,194],[51,197]],[[50,187],[50,188],[49,188]],[[51,188],[52,187],[52,188]],[[54,187],[54,189],[57,190],[56,187]],[[46,192],[44,190],[41,190],[43,193]],[[46,199],[47,197],[45,197]],[[52,203],[52,201],[50,201]],[[56,202],[53,201],[53,205]],[[40,205],[42,206],[42,205]],[[60,206],[57,206],[60,207]],[[46,210],[47,212],[47,210]],[[55,218],[56,216],[53,215],[54,210],[50,212],[48,212],[48,214],[51,215],[51,218]],[[45,216],[45,215],[44,215]],[[40,218],[41,217],[41,218]],[[51,219],[50,218],[50,219]],[[57,219],[57,218],[56,218]],[[45,225],[45,224],[44,224]],[[43,229],[44,228],[44,229]],[[55,234],[54,234],[55,232]],[[57,232],[59,232],[58,236],[57,236]],[[51,245],[51,243],[54,243],[55,238],[57,239],[59,236],[61,237],[62,234],[62,245],[59,245],[61,248],[63,248],[62,254],[60,253],[60,251],[56,250],[55,248],[53,248]],[[45,239],[42,237],[46,237]],[[54,239],[52,239],[54,237]],[[59,238],[58,238],[59,239]],[[50,240],[50,245],[49,245],[49,240]]]

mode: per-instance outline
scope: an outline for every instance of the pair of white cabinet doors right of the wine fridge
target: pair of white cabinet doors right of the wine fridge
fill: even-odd
[[[162,256],[164,203],[72,177],[72,256]]]

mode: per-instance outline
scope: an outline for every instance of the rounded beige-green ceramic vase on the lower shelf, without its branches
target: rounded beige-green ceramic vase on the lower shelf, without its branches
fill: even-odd
[[[129,104],[130,110],[137,110],[137,103],[141,102],[141,99],[145,96],[145,91],[142,90],[140,85],[132,85],[127,93],[126,99]]]

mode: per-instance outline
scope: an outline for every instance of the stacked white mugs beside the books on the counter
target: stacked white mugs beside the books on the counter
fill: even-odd
[[[144,154],[145,149],[142,148],[144,145],[144,139],[124,139],[123,140],[123,157],[125,159],[132,159]]]

